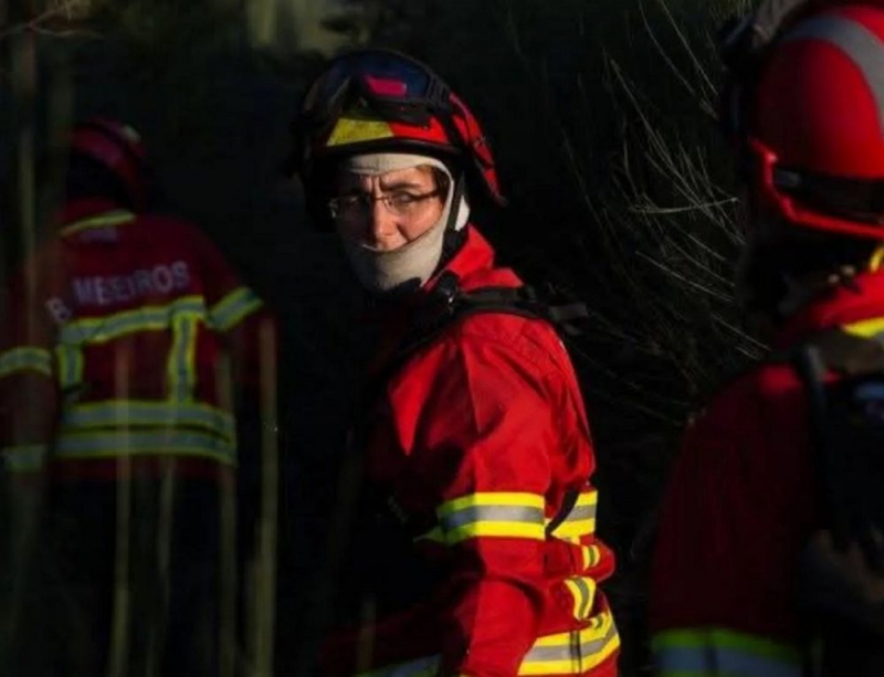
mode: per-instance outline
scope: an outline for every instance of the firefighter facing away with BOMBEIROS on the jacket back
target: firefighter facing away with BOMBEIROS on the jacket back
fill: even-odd
[[[13,498],[44,487],[45,520],[36,581],[14,572],[9,674],[217,666],[232,384],[270,319],[194,225],[146,212],[150,192],[133,128],[75,126],[57,232],[10,285],[0,467]]]

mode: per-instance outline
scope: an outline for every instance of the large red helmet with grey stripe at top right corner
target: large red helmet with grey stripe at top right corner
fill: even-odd
[[[753,197],[775,221],[884,239],[884,2],[768,0],[744,30],[785,6],[725,102]]]

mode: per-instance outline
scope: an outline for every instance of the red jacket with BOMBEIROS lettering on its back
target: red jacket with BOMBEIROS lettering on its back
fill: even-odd
[[[270,319],[192,224],[105,201],[69,204],[57,237],[8,296],[9,470],[114,478],[120,458],[149,472],[172,456],[180,472],[235,465],[231,370],[254,367],[259,319]]]

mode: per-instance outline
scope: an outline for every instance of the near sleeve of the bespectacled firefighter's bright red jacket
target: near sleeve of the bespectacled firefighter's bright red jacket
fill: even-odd
[[[418,369],[391,404],[435,501],[431,538],[451,564],[442,674],[512,677],[545,599],[545,494],[557,444],[548,374],[512,347],[481,340],[449,341]]]

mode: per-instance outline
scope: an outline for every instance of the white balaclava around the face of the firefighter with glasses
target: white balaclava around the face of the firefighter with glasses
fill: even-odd
[[[381,251],[344,237],[344,248],[356,276],[362,286],[372,294],[385,294],[414,285],[422,286],[439,266],[445,244],[445,226],[451,214],[454,195],[454,179],[448,167],[435,158],[422,155],[378,152],[357,155],[348,158],[341,166],[343,172],[378,176],[412,167],[435,167],[449,177],[449,193],[439,220],[430,229],[407,244],[392,251]],[[461,230],[470,218],[470,207],[465,191],[461,191],[454,230]]]

